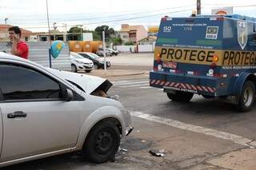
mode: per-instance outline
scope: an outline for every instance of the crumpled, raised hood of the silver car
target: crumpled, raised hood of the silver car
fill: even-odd
[[[72,81],[79,85],[86,93],[93,93],[96,89],[102,89],[105,93],[113,85],[110,81],[102,77],[88,76],[82,73],[71,73],[67,71],[60,71],[57,69],[46,68],[50,73],[65,79],[66,81]]]

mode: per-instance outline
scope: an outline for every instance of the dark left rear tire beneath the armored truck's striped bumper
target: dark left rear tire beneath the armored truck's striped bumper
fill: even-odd
[[[194,93],[175,91],[175,93],[167,93],[167,97],[172,101],[189,102]]]

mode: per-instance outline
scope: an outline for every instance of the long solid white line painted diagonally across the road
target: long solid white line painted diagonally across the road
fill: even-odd
[[[147,121],[155,121],[164,125],[169,125],[174,128],[181,128],[191,132],[198,132],[208,136],[214,136],[222,140],[230,140],[236,144],[242,144],[250,148],[256,147],[256,142],[254,142],[253,140],[247,139],[246,137],[243,137],[243,136],[237,136],[228,132],[221,132],[218,130],[214,130],[212,128],[203,128],[201,126],[190,125],[190,124],[182,123],[181,121],[175,121],[168,118],[155,117],[153,115],[146,114],[146,113],[131,112],[130,115],[134,117],[140,117]]]

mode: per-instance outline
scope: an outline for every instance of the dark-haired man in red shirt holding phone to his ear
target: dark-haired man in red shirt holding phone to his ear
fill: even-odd
[[[12,49],[10,53],[27,59],[29,54],[29,47],[26,42],[23,42],[20,38],[22,36],[22,31],[18,26],[12,26],[9,28],[9,38],[13,42]]]

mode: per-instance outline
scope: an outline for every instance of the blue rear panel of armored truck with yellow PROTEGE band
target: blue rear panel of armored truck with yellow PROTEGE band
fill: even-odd
[[[154,51],[154,69],[206,75],[222,57],[222,18],[162,18]],[[221,64],[220,60],[216,65]],[[171,70],[170,70],[171,69]],[[216,69],[218,72],[218,69]]]

